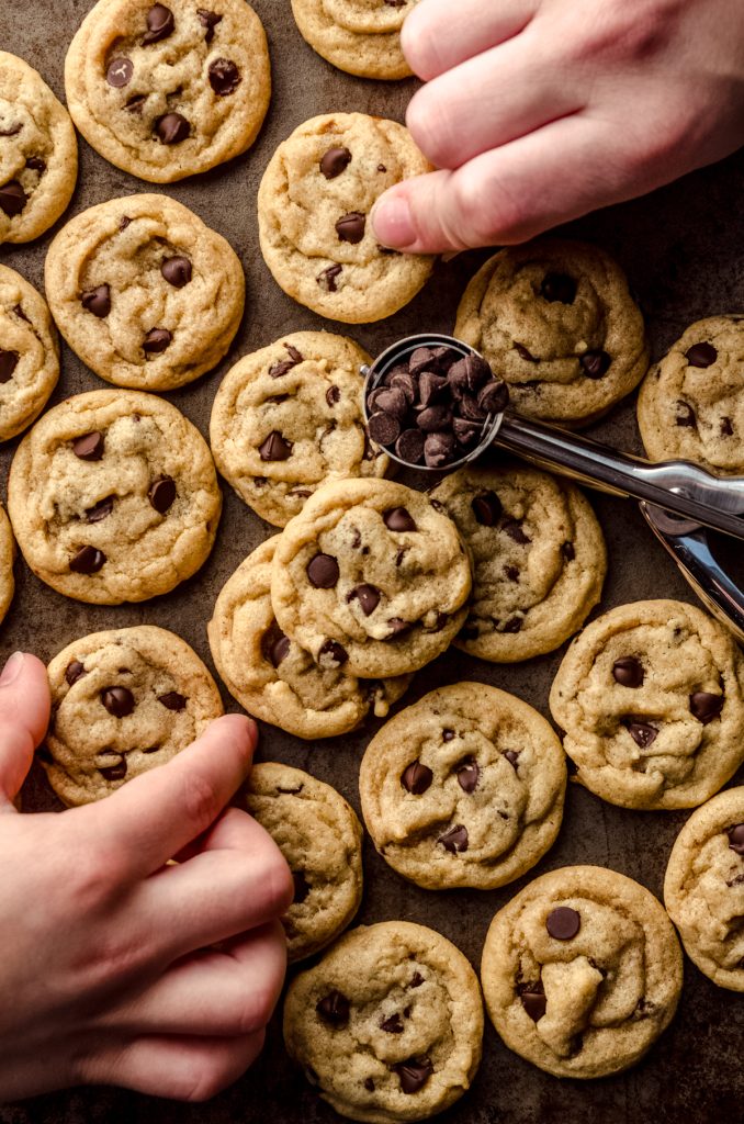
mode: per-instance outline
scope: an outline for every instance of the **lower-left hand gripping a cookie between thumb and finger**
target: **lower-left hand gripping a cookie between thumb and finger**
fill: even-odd
[[[255,725],[219,718],[99,804],[19,815],[48,715],[44,665],[11,656],[0,677],[0,1102],[93,1082],[206,1099],[260,1052],[285,969],[289,868],[251,816],[224,810]]]

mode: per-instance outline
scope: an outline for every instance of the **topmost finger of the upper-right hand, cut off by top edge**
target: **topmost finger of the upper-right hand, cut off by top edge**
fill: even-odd
[[[453,18],[452,0],[425,0],[409,16],[400,45],[410,69],[428,81],[473,55],[518,35],[529,24],[539,0],[475,0]]]

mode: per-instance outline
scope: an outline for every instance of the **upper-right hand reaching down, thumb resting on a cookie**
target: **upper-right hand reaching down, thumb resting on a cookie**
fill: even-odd
[[[382,196],[388,246],[523,242],[744,142],[742,0],[420,0],[402,47],[443,171]]]

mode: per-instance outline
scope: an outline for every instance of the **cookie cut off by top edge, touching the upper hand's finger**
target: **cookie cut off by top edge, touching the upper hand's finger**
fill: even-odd
[[[292,0],[302,38],[327,62],[360,78],[408,78],[400,29],[417,0]]]

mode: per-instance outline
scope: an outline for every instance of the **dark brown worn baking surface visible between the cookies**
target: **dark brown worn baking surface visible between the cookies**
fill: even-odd
[[[162,190],[191,207],[225,235],[237,251],[247,278],[246,314],[230,354],[196,384],[169,396],[206,435],[215,391],[235,360],[271,343],[282,333],[328,327],[296,305],[274,284],[258,251],[255,199],[266,163],[288,134],[314,114],[361,110],[402,120],[412,82],[375,83],[334,70],[300,38],[289,0],[254,0],[272,53],[274,93],[257,144],[215,171],[171,187],[151,187],[106,163],[80,142],[81,170],[67,218],[93,203],[139,191]],[[70,39],[91,7],[90,0],[3,0],[0,46],[40,71],[64,100],[63,64]],[[646,312],[654,356],[663,353],[693,319],[744,306],[741,208],[743,154],[704,170],[645,199],[592,215],[572,234],[597,241],[628,271]],[[65,219],[63,218],[62,221]],[[3,246],[0,261],[43,287],[44,255],[53,233],[29,246]],[[341,325],[371,352],[401,335],[432,327],[451,332],[462,290],[484,253],[438,263],[425,291],[398,316],[371,326]],[[53,398],[108,386],[64,348],[63,374]],[[641,452],[633,402],[624,404],[593,430],[618,447]],[[0,452],[2,491],[17,442]],[[410,482],[410,481],[409,481]],[[420,483],[420,482],[419,482]],[[17,592],[0,631],[0,655],[15,649],[48,660],[63,645],[99,628],[151,623],[183,636],[211,667],[206,624],[217,593],[238,563],[273,534],[225,488],[225,511],[217,546],[199,574],[173,593],[142,605],[102,607],[67,600],[38,581],[19,561]],[[607,535],[610,573],[601,608],[646,597],[695,597],[672,561],[652,538],[632,502],[592,495]],[[728,558],[741,547],[727,550]],[[459,679],[475,679],[514,691],[547,716],[547,692],[561,651],[524,664],[490,665],[452,650],[416,676],[405,703]],[[228,709],[237,705],[224,691]],[[309,769],[334,785],[359,810],[357,769],[371,733],[366,728],[308,745],[264,727],[260,756]],[[44,780],[34,773],[26,806],[55,807]],[[369,845],[366,889],[359,921],[407,918],[438,930],[478,968],[493,913],[534,874],[572,863],[619,870],[660,895],[666,859],[686,813],[634,813],[610,807],[572,786],[557,844],[525,878],[493,892],[427,892],[394,874]],[[1,954],[1,953],[0,953]],[[472,1090],[437,1117],[443,1124],[533,1124],[602,1121],[604,1124],[704,1124],[738,1121],[744,1104],[741,1026],[744,997],[719,990],[686,961],[684,991],[674,1022],[650,1055],[628,1073],[593,1082],[559,1081],[503,1046],[489,1026],[483,1063]],[[6,997],[6,1001],[8,997]],[[736,1026],[738,1024],[738,1031]],[[79,1089],[0,1109],[2,1124],[82,1124],[136,1121],[138,1124],[332,1124],[338,1121],[287,1059],[278,1017],[263,1055],[241,1080],[205,1105],[182,1105],[119,1089]]]

